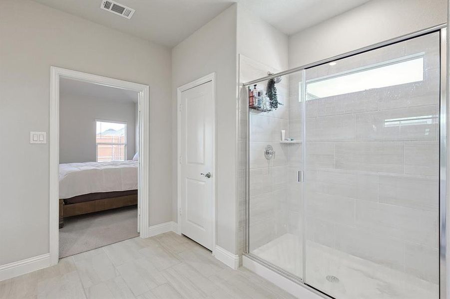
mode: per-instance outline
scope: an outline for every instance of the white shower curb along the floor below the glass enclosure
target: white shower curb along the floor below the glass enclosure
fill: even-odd
[[[293,296],[301,299],[324,299],[324,295],[320,295],[317,291],[313,292],[307,286],[295,283],[292,280],[282,276],[281,274],[267,268],[266,266],[250,259],[247,256],[242,257],[242,266],[248,270],[258,274],[267,279],[277,287],[285,290]]]

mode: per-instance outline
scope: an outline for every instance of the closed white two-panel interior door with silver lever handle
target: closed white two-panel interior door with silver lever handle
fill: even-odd
[[[181,233],[212,250],[212,82],[181,92]]]

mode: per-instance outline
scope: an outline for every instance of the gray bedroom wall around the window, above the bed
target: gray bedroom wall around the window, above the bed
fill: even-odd
[[[137,95],[136,95],[137,97]],[[127,159],[135,153],[136,104],[92,99],[75,94],[59,96],[59,163],[96,160],[95,120],[126,122]]]

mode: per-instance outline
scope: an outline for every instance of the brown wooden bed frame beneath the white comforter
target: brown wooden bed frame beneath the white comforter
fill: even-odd
[[[64,217],[126,207],[135,204],[137,204],[137,194],[71,204],[65,204],[64,199],[59,199],[59,228],[64,226]]]

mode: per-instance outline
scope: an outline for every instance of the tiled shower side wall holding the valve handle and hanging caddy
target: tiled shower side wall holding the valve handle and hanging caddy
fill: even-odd
[[[267,72],[278,72],[270,66],[256,62],[240,55],[239,65],[240,82],[267,76]],[[277,110],[260,112],[250,109],[249,117],[249,201],[253,207],[250,209],[250,248],[255,249],[286,233],[288,222],[288,209],[284,205],[289,195],[288,188],[288,152],[280,144],[281,130],[288,133],[289,103],[288,81],[285,79],[276,85],[278,100],[283,103]],[[257,88],[267,89],[267,81],[258,84]],[[239,105],[240,113],[240,179],[239,208],[240,219],[244,220],[245,211],[245,163],[246,163],[246,126],[247,126],[247,91],[241,90]],[[264,148],[271,145],[275,150],[274,158],[267,160],[264,157]],[[243,226],[239,223],[240,252],[243,250]]]

